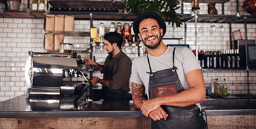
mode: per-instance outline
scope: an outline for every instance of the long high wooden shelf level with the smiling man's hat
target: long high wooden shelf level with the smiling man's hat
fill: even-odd
[[[90,19],[90,13],[93,14],[94,20],[120,20],[133,21],[137,15],[135,13],[119,13],[119,12],[99,12],[99,11],[3,11],[0,17],[6,18],[43,18],[46,14],[63,14],[75,15],[75,19]],[[194,16],[191,14],[179,14],[182,22],[195,22]],[[199,14],[197,22],[204,23],[244,23],[244,17],[247,17],[248,24],[256,24],[256,15],[208,15]]]

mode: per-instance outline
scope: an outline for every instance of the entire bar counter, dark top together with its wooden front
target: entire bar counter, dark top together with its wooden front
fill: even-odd
[[[226,118],[225,124],[230,125],[234,125],[234,123],[236,125],[238,124],[237,120],[241,121],[242,118],[245,118],[243,121],[251,122],[251,124],[246,123],[249,128],[251,126],[256,128],[256,98],[254,97],[230,95],[225,99],[207,98],[201,103],[201,107],[207,113],[209,126],[215,125],[216,118],[218,118],[217,121]],[[44,128],[51,128],[53,121],[59,123],[55,123],[59,125],[59,128],[65,128],[63,125],[67,122],[69,124],[75,122],[73,120],[82,123],[90,122],[86,125],[90,124],[91,126],[98,122],[102,124],[102,122],[107,123],[115,120],[119,128],[127,128],[127,124],[129,124],[129,128],[150,128],[150,119],[143,117],[141,112],[135,109],[133,101],[74,101],[72,97],[29,97],[28,94],[0,103],[0,125],[7,121],[11,122],[11,120],[14,124],[18,123],[15,128],[25,127],[24,124],[31,124],[30,126],[37,128],[37,124],[34,123],[35,120],[44,124],[45,122],[51,123],[43,126]],[[230,123],[228,120],[234,123]],[[2,124],[0,128],[3,125],[5,124]],[[241,124],[241,126],[245,125]],[[9,126],[5,127],[9,128]],[[101,126],[96,127],[101,128]],[[239,128],[240,126],[236,127]]]

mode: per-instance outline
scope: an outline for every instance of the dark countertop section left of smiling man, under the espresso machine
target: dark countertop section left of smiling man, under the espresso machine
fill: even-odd
[[[0,103],[0,118],[141,117],[132,101],[74,101],[72,97],[29,97]]]

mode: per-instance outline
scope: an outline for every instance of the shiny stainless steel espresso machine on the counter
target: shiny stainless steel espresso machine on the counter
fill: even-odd
[[[29,52],[25,77],[29,95],[92,97],[92,84],[76,54]]]

